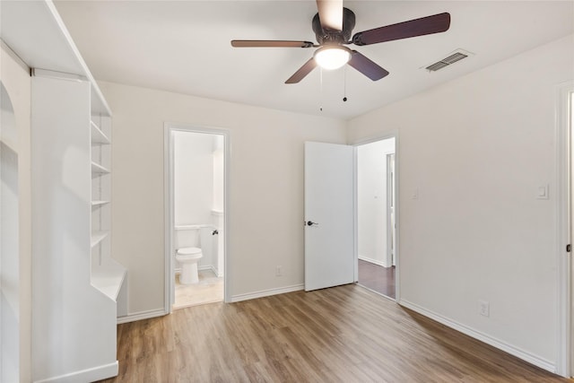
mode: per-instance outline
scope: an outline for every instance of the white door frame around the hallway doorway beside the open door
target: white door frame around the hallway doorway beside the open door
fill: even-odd
[[[401,286],[401,267],[400,267],[400,195],[399,195],[399,179],[400,179],[400,155],[399,155],[399,134],[398,130],[389,130],[381,135],[372,136],[369,138],[364,138],[357,140],[352,143],[353,155],[355,162],[354,180],[353,180],[353,195],[354,195],[354,279],[359,281],[359,201],[358,201],[358,177],[359,172],[357,154],[359,146],[364,144],[376,143],[377,141],[387,140],[389,138],[395,138],[395,301],[400,301],[400,286]]]

